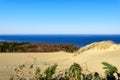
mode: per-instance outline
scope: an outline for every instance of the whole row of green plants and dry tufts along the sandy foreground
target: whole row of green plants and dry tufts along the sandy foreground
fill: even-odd
[[[15,75],[10,76],[9,80],[120,80],[120,73],[115,66],[107,62],[102,62],[102,64],[105,70],[104,76],[99,75],[98,72],[86,74],[77,63],[73,63],[61,74],[56,74],[57,64],[48,67],[43,73],[36,65],[32,65],[32,67],[30,65],[30,71],[27,73],[24,71],[26,66],[23,64],[14,68]],[[117,75],[115,76],[115,74]]]

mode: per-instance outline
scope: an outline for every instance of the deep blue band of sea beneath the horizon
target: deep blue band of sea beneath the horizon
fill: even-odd
[[[31,42],[50,44],[74,44],[83,47],[93,42],[113,41],[120,43],[120,35],[91,34],[43,34],[43,35],[0,35],[0,42]]]

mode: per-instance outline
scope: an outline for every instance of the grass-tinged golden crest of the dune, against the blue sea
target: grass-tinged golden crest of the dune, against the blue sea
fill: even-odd
[[[112,41],[101,41],[101,42],[94,42],[83,48],[80,48],[78,50],[78,53],[83,53],[90,50],[106,52],[106,51],[114,51],[118,49],[120,49],[120,44],[116,44]]]

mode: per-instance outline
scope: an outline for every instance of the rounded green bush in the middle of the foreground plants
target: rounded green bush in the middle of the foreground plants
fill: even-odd
[[[77,63],[74,63],[69,68],[69,76],[73,79],[81,80],[81,71],[82,71],[82,68],[80,67],[80,65]]]

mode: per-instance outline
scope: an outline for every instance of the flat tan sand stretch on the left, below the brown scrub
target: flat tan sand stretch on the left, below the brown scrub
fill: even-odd
[[[61,64],[73,58],[73,54],[66,52],[52,53],[0,53],[0,80],[8,80],[8,76],[13,74],[12,67],[21,64],[37,64],[41,69],[52,64]]]

